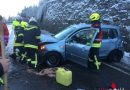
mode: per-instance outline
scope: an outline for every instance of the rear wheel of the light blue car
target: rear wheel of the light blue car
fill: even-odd
[[[114,50],[110,52],[110,54],[107,56],[108,62],[120,62],[123,57],[123,54],[119,50]]]

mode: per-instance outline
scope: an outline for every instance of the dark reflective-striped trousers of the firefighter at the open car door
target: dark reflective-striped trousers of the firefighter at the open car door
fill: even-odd
[[[89,52],[89,60],[88,60],[88,68],[99,70],[101,66],[101,62],[99,59],[99,48],[90,48]]]

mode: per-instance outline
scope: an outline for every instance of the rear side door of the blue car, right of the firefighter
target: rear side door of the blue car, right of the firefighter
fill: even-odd
[[[112,28],[103,28],[102,47],[100,49],[100,56],[107,56],[108,53],[115,48],[117,42],[117,31]]]

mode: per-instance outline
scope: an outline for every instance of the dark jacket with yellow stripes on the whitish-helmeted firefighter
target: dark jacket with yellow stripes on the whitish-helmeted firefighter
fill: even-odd
[[[29,25],[24,29],[24,47],[38,49],[40,29],[36,25]]]

